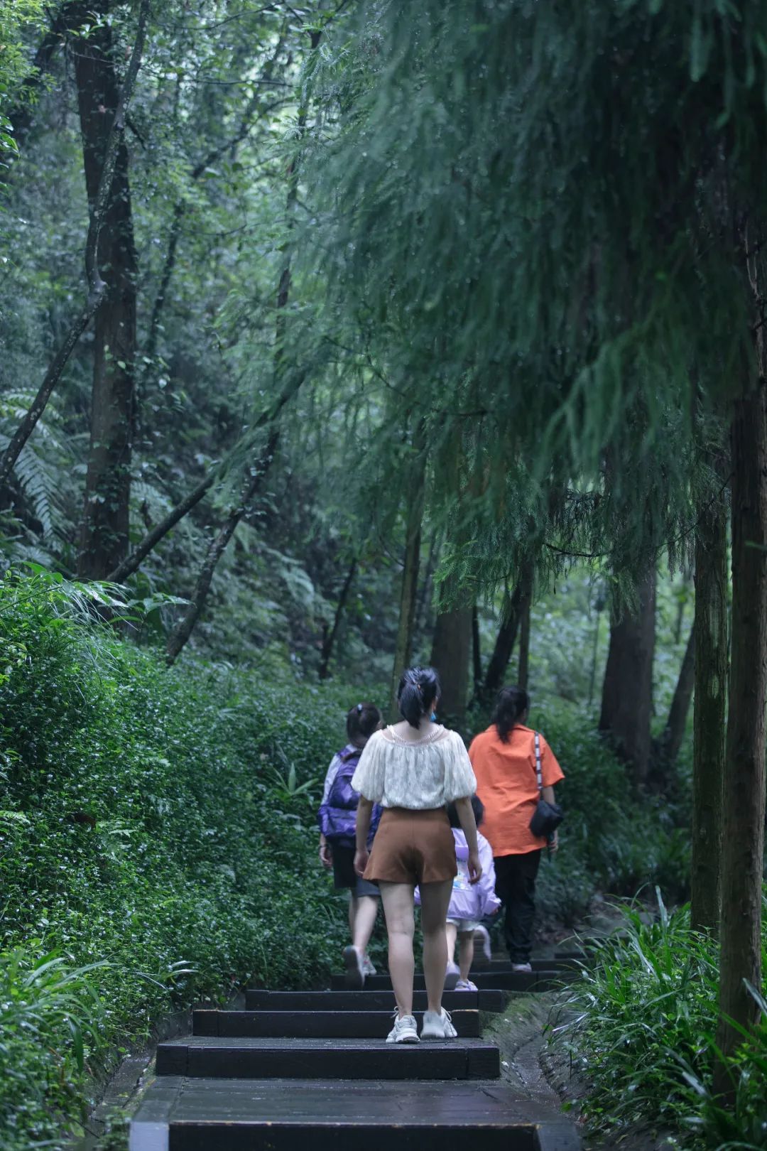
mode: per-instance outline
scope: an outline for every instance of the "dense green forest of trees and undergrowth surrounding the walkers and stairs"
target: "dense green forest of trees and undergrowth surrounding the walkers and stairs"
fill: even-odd
[[[319,780],[412,661],[467,738],[529,688],[544,925],[658,909],[592,1123],[767,1145],[767,28],[672,7],[0,2],[9,1148],[328,969]]]

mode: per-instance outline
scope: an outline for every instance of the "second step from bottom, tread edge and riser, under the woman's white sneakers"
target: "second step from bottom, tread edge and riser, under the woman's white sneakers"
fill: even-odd
[[[482,1039],[404,1044],[381,1039],[186,1036],[158,1046],[158,1075],[206,1078],[497,1078],[500,1052]]]

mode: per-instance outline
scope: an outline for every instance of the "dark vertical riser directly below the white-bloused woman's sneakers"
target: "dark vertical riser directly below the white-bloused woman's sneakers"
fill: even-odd
[[[497,1047],[451,1050],[440,1044],[391,1045],[370,1051],[158,1047],[158,1075],[205,1078],[465,1080],[498,1078]]]

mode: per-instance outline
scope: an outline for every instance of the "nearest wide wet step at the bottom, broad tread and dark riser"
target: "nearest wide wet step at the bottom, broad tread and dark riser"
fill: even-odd
[[[146,1091],[130,1151],[580,1151],[573,1123],[498,1082],[190,1080]]]

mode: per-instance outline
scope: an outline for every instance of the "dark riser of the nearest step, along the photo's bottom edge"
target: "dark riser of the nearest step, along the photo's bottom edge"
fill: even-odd
[[[538,1151],[531,1127],[396,1128],[327,1126],[245,1127],[228,1123],[171,1125],[168,1151]],[[562,1149],[565,1151],[565,1149]]]

